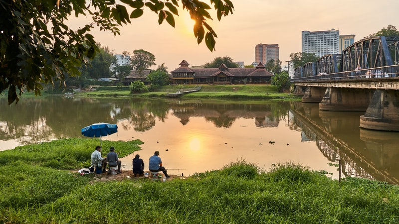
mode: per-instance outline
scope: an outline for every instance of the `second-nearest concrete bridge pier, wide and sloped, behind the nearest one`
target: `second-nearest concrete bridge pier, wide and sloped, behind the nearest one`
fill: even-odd
[[[319,104],[321,111],[366,111],[374,90],[328,87]]]

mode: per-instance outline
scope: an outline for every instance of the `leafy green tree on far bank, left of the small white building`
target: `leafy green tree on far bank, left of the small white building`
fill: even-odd
[[[111,65],[116,64],[116,57],[108,46],[102,47],[100,44],[96,44],[96,46],[99,53],[90,60],[88,66],[81,68],[81,72],[92,79],[111,77]]]

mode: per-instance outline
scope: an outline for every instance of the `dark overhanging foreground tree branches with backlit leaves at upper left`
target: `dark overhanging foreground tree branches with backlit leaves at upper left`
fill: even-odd
[[[210,4],[218,20],[234,9],[230,0],[210,0]],[[65,76],[79,75],[77,68],[99,52],[90,34],[92,28],[119,35],[119,27],[142,16],[146,8],[158,14],[159,24],[166,20],[174,27],[178,7],[186,9],[196,21],[193,30],[197,42],[204,40],[213,51],[217,35],[207,23],[213,9],[200,0],[1,1],[0,92],[8,89],[11,104],[19,101],[24,89],[40,95],[43,84],[59,82],[63,86]],[[72,30],[65,24],[72,15],[92,21]]]

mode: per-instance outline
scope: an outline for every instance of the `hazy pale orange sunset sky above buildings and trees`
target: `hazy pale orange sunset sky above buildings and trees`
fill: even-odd
[[[233,14],[222,17],[220,21],[212,11],[213,21],[209,23],[217,34],[216,51],[213,52],[204,42],[197,44],[190,16],[183,10],[179,17],[175,16],[175,28],[166,21],[159,25],[158,15],[145,8],[142,17],[121,28],[120,36],[114,37],[104,31],[93,31],[93,35],[97,42],[113,49],[115,54],[136,49],[149,51],[154,54],[157,65],[165,63],[172,71],[182,60],[196,66],[219,56],[229,56],[249,65],[255,60],[255,46],[259,43],[278,44],[284,67],[291,53],[301,51],[302,30],[334,28],[341,35],[355,34],[355,41],[358,41],[390,24],[399,29],[398,0],[231,1]]]

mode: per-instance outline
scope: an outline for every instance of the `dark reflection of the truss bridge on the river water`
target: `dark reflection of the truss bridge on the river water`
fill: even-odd
[[[359,128],[360,112],[319,111],[318,104],[292,102],[292,129],[301,129],[304,140],[316,142],[332,163],[341,160],[345,177],[361,177],[399,185],[398,132]]]

